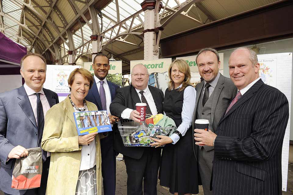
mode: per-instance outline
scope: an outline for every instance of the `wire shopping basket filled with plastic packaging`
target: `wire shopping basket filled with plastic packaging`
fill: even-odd
[[[139,122],[122,119],[118,122],[118,129],[124,146],[150,146],[151,143],[154,143],[150,137],[159,139],[156,137],[157,135],[169,136],[175,130],[175,127],[161,127],[153,124],[149,124],[148,127],[141,127]]]

